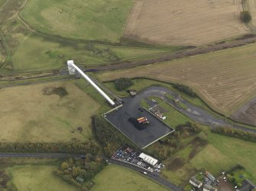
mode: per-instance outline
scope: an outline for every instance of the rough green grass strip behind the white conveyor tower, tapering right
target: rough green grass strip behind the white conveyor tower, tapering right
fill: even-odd
[[[34,47],[31,49],[31,47]],[[135,51],[136,50],[136,51]],[[136,59],[165,53],[166,49],[129,48],[115,46],[93,46],[86,43],[53,42],[43,37],[26,37],[15,49],[12,62],[15,72],[40,71],[66,67],[66,60],[73,59],[82,65],[100,65],[118,60]],[[37,56],[34,56],[37,55]]]

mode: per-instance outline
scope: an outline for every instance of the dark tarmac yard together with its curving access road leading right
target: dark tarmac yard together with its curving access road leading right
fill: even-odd
[[[144,91],[141,91],[134,97],[123,98],[122,100],[125,102],[123,103],[123,107],[115,110],[113,113],[109,113],[105,118],[141,148],[156,142],[159,138],[163,137],[164,135],[168,135],[173,131],[173,129],[170,129],[167,125],[161,123],[160,119],[152,116],[151,113],[148,113],[146,110],[143,112],[138,110],[141,108],[141,100],[147,99],[147,97],[160,97],[166,103],[169,103],[174,109],[179,110],[180,113],[183,113],[183,115],[189,117],[193,121],[206,126],[211,126],[212,128],[215,126],[229,126],[234,129],[241,129],[247,132],[256,132],[256,129],[248,129],[244,126],[236,126],[231,123],[227,123],[225,122],[225,119],[214,116],[212,113],[209,113],[208,111],[200,107],[196,107],[192,103],[181,99],[180,101],[182,101],[186,107],[188,107],[188,109],[184,110],[177,104],[173,103],[172,100],[165,97],[164,94],[171,94],[173,97],[178,96],[177,93],[170,91],[167,88],[161,86],[151,86],[144,89]],[[157,103],[150,104],[151,107],[154,107],[154,104]],[[130,117],[137,119],[142,116],[147,117],[148,121],[150,122],[149,126],[143,130],[136,129],[133,124],[128,121]]]

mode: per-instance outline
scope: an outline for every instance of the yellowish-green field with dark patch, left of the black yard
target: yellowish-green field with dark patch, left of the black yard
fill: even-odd
[[[92,137],[91,116],[100,105],[73,81],[35,84],[0,90],[0,141],[69,142]],[[53,94],[64,88],[67,95]],[[33,95],[33,96],[31,96]],[[79,132],[78,127],[83,131]]]

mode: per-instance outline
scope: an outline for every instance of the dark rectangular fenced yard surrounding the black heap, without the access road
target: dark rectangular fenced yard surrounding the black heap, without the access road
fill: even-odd
[[[122,99],[124,101],[122,107],[105,114],[104,117],[119,131],[130,138],[132,142],[141,148],[145,148],[174,130],[163,123],[161,119],[157,119],[156,116],[142,109],[140,106],[142,99],[144,97],[139,95],[126,97]],[[138,119],[140,117],[146,117],[149,122],[143,129],[138,129],[131,123],[131,118]]]

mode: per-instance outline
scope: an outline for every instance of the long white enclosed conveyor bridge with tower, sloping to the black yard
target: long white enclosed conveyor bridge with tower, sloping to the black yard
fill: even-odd
[[[92,86],[93,88],[96,88],[96,91],[99,91],[99,94],[101,94],[107,101],[109,101],[109,103],[112,105],[112,106],[115,106],[115,102],[110,99],[110,97],[104,93],[104,91],[102,91],[101,88],[99,88],[98,85],[96,85],[96,83],[94,83],[88,75],[86,75],[80,68],[78,68],[75,64],[74,64],[74,61],[73,60],[68,60],[67,61],[67,66],[69,68],[69,74],[70,75],[75,75],[76,72],[79,72],[80,75],[83,76],[83,78],[86,78],[86,81],[88,81]]]

